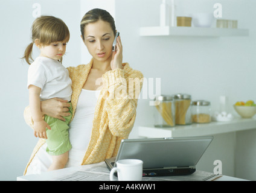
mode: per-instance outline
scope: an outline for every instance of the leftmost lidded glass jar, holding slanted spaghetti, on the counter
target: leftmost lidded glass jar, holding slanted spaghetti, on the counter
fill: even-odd
[[[155,127],[174,127],[175,107],[173,96],[156,96],[154,103]]]

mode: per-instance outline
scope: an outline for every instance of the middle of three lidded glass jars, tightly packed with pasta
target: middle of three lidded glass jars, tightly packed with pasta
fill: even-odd
[[[192,124],[191,118],[191,95],[178,93],[175,100],[175,123],[177,125]]]

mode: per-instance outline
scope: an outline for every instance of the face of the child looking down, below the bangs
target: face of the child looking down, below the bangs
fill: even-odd
[[[66,42],[52,42],[50,45],[40,46],[39,49],[40,56],[60,60],[66,52]]]

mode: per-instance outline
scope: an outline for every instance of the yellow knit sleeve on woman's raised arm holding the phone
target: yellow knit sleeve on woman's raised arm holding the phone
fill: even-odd
[[[136,118],[138,96],[142,88],[143,75],[130,69],[114,69],[103,75],[103,86],[108,90],[106,110],[109,130],[114,136],[128,138]]]

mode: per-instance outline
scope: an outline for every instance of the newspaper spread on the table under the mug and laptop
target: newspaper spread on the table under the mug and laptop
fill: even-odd
[[[186,176],[158,176],[142,177],[142,181],[208,181],[215,180],[220,175],[211,172],[197,170],[193,174]],[[118,181],[117,177],[114,177]],[[104,162],[82,167],[78,171],[72,171],[65,176],[51,179],[54,181],[109,181],[109,169]]]

